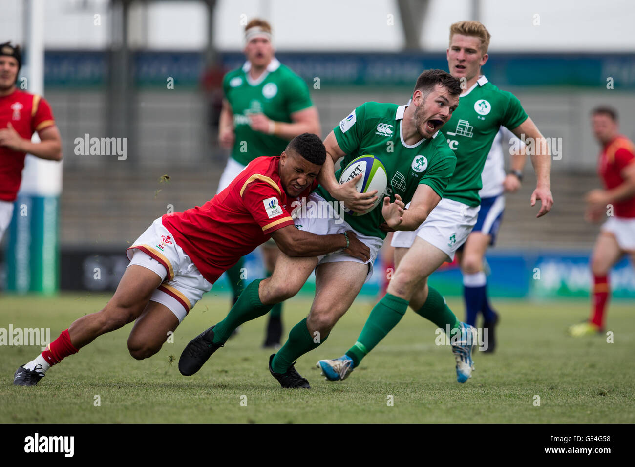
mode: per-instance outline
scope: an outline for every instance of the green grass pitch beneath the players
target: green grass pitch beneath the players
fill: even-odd
[[[55,339],[77,317],[93,313],[101,295],[58,298],[0,297],[0,328],[50,327]],[[173,344],[138,362],[126,349],[131,325],[99,337],[53,367],[34,388],[13,386],[18,365],[36,346],[2,346],[0,422],[537,422],[635,421],[635,313],[612,302],[606,337],[566,337],[587,315],[585,301],[531,303],[496,300],[502,315],[499,348],[479,355],[472,379],[458,384],[450,348],[434,344],[434,325],[411,311],[344,382],[324,381],[313,365],[340,356],[355,342],[373,303],[358,299],[324,345],[302,356],[298,371],[311,390],[281,389],[269,375],[269,351],[260,349],[265,320],[215,353],[192,377],[180,376],[185,344],[222,318],[226,297],[199,302],[177,329]],[[448,301],[462,315],[457,299]],[[285,331],[307,312],[309,300],[284,306]],[[286,334],[285,334],[286,335]],[[169,363],[171,356],[175,358]],[[95,395],[100,407],[95,407]],[[534,396],[540,396],[535,407]],[[246,407],[241,405],[246,396]],[[389,407],[389,396],[394,405]],[[244,397],[242,398],[244,400]]]

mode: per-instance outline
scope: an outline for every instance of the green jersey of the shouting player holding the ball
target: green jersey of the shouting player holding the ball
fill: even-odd
[[[385,196],[390,196],[391,201],[394,201],[394,194],[399,194],[404,203],[409,203],[419,184],[430,186],[443,198],[457,158],[441,132],[436,132],[431,139],[406,145],[401,131],[405,110],[405,105],[366,102],[340,121],[333,132],[346,156],[335,178],[340,179],[340,173],[352,159],[371,154],[386,168],[388,187]],[[324,187],[319,186],[317,192],[325,200],[335,201]],[[384,222],[382,203],[364,215],[345,213],[344,220],[364,235],[382,239],[386,236],[379,228]]]

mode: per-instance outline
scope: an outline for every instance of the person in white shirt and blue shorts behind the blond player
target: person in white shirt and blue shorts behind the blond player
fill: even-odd
[[[512,160],[511,170],[505,175],[503,149],[507,149],[508,143],[511,144],[509,152]],[[501,126],[491,144],[481,174],[483,187],[478,192],[481,209],[476,224],[465,243],[457,250],[458,263],[463,273],[465,322],[476,326],[478,313],[483,315],[483,328],[487,330],[485,352],[493,352],[496,347],[495,327],[498,323],[498,313],[491,308],[487,296],[485,252],[496,241],[505,211],[504,193],[512,193],[520,188],[525,161],[525,144],[514,133]]]

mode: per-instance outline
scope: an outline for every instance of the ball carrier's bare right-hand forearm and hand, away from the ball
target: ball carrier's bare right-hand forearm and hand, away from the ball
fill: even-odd
[[[401,215],[399,211],[404,206],[401,196],[396,194],[394,203],[389,203],[389,200],[390,198],[384,198],[384,206],[382,206],[382,215],[387,227],[394,230],[417,230],[428,218],[434,206],[439,204],[441,196],[436,194],[430,186],[420,184],[410,201],[410,208],[401,209]]]

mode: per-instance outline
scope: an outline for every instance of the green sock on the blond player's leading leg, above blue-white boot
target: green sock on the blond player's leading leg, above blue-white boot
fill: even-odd
[[[406,309],[408,301],[392,294],[385,294],[373,307],[358,341],[346,352],[346,355],[352,358],[354,367],[358,367],[361,359],[399,323]]]

